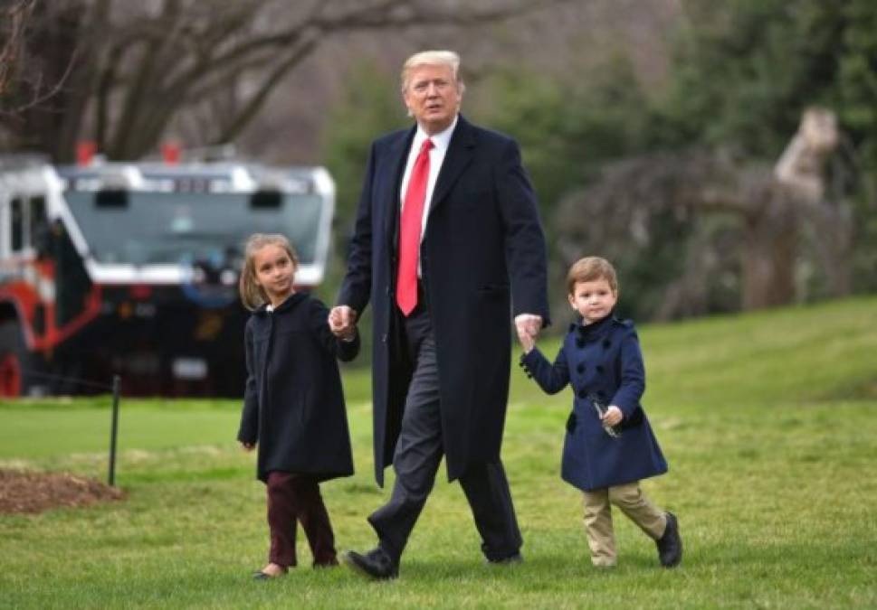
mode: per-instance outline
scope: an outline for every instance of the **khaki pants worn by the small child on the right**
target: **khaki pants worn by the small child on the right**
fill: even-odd
[[[663,531],[667,527],[664,511],[649,502],[640,489],[638,481],[584,492],[584,495],[587,546],[591,549],[591,563],[595,566],[615,566],[615,534],[612,530],[611,504],[620,508],[653,540],[663,536]]]

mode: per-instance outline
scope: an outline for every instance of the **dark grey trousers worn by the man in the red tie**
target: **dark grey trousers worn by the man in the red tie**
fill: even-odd
[[[390,501],[368,518],[381,548],[396,562],[433,489],[443,455],[438,362],[429,314],[418,307],[405,318],[404,327],[414,376],[393,455],[396,483]],[[517,553],[522,540],[500,460],[470,465],[460,484],[481,534],[484,555],[501,559]]]

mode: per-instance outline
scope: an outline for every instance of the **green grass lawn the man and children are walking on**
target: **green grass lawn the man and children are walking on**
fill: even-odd
[[[267,552],[264,488],[234,443],[234,401],[123,399],[122,502],[0,515],[0,607],[875,607],[877,298],[643,326],[644,405],[671,470],[643,483],[679,515],[682,566],[615,511],[618,567],[591,568],[581,499],[560,481],[568,390],[512,371],[503,459],[526,561],[483,564],[443,472],[403,558],[374,584],[346,569],[249,574]],[[553,355],[557,341],[547,341]],[[517,353],[516,353],[517,357]],[[323,493],[339,549],[368,549],[388,497],[371,459],[367,371],[346,369],[357,474]],[[109,399],[0,405],[0,467],[105,480]]]

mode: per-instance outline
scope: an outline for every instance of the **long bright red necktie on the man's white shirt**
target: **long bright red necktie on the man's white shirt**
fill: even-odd
[[[417,258],[420,254],[420,231],[424,220],[426,182],[429,179],[429,150],[433,141],[424,140],[415,159],[405,191],[402,218],[399,221],[399,273],[396,277],[396,304],[405,315],[417,306]]]

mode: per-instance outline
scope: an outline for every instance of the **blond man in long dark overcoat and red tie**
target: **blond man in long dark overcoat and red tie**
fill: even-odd
[[[373,305],[377,483],[389,502],[368,521],[376,549],[348,565],[396,577],[442,455],[459,479],[491,562],[520,560],[520,530],[500,445],[509,393],[510,317],[548,324],[546,246],[537,202],[508,136],[459,114],[453,52],[405,62],[402,94],[416,125],[371,147],[348,273],[330,324],[347,333]]]

